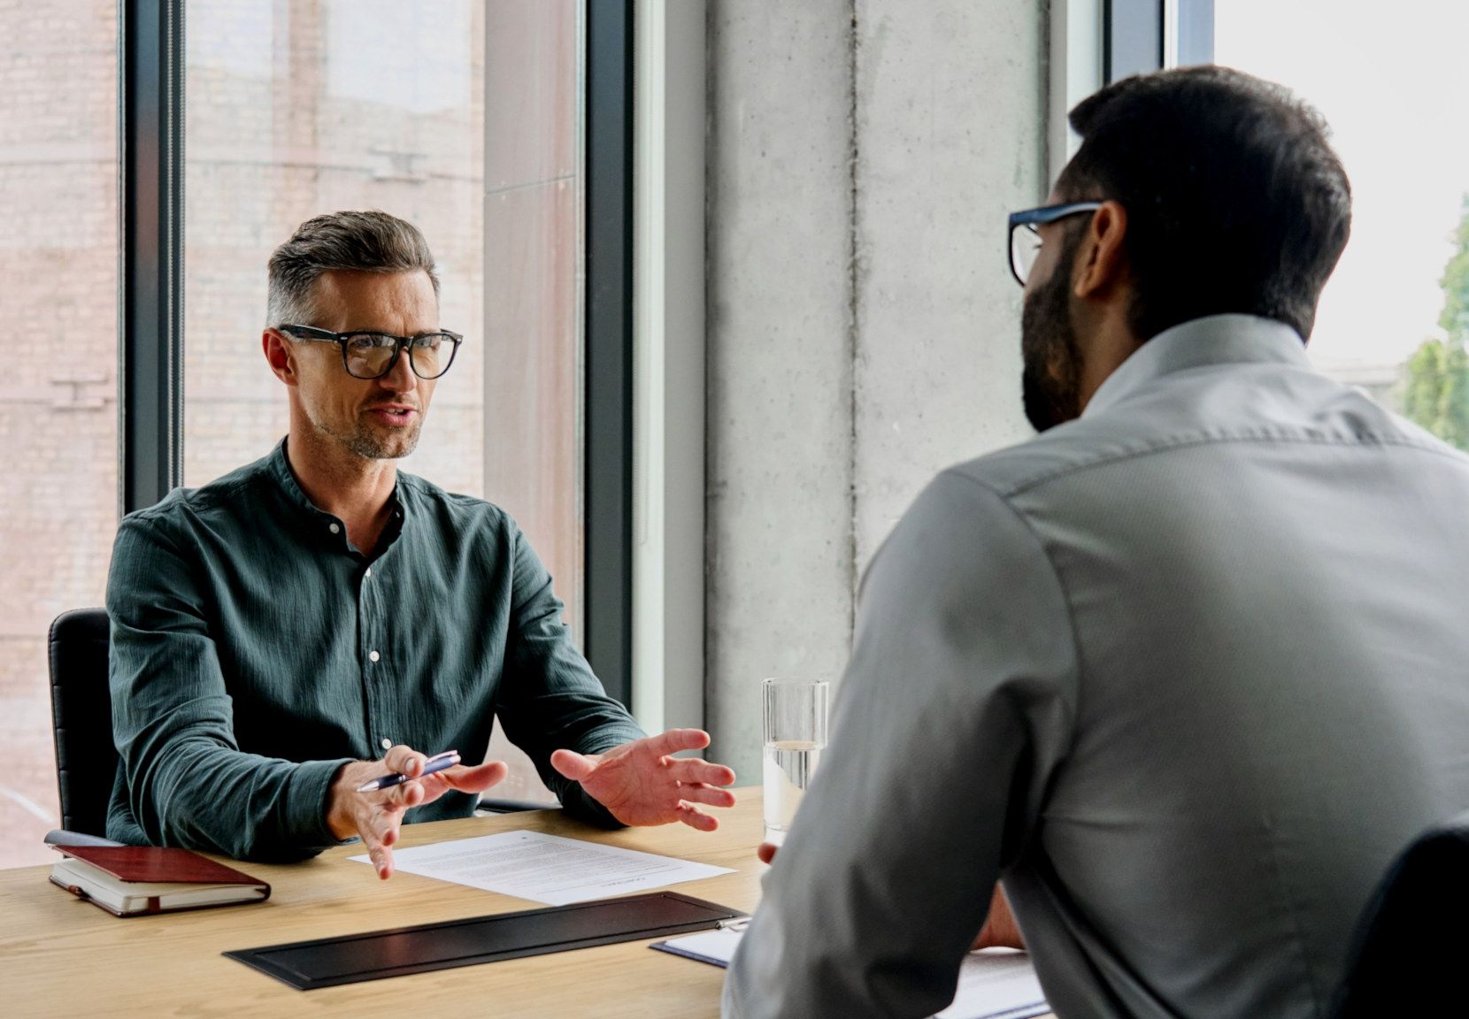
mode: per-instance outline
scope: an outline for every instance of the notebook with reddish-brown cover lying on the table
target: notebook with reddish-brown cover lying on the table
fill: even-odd
[[[118,916],[263,902],[270,885],[187,849],[54,846],[51,882]]]

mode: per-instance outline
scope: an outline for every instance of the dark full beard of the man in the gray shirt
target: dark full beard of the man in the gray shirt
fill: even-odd
[[[1021,401],[1037,432],[1081,417],[1081,349],[1071,322],[1069,285],[1080,247],[1080,233],[1066,235],[1050,279],[1025,297],[1021,311]]]

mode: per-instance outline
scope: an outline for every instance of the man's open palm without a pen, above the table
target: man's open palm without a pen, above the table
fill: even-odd
[[[674,758],[679,750],[701,750],[710,734],[699,728],[670,728],[623,743],[605,753],[557,750],[551,765],[582,784],[586,794],[627,825],[682,821],[699,831],[714,831],[718,821],[698,808],[734,806],[734,772],[698,758]]]

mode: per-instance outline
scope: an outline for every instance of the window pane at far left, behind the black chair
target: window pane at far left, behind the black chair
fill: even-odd
[[[101,605],[118,524],[118,4],[0,7],[0,866],[60,827],[50,621]],[[57,355],[60,354],[60,357]]]

